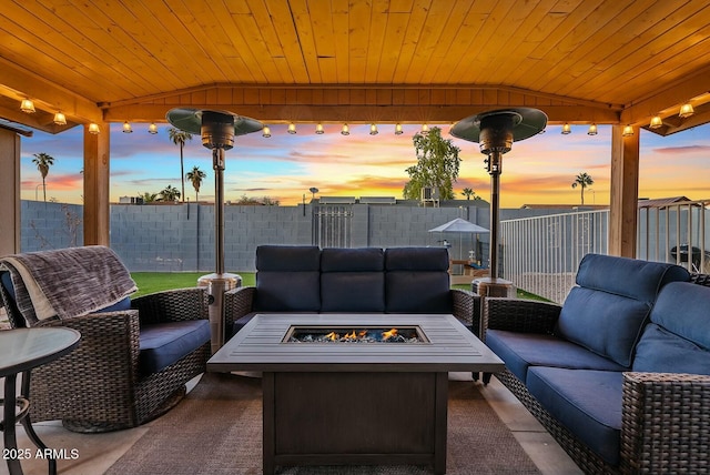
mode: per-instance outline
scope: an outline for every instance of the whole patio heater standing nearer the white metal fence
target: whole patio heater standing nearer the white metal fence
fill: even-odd
[[[498,279],[498,234],[500,231],[499,183],[503,171],[503,155],[513,148],[513,142],[529,139],[547,125],[545,112],[530,108],[505,109],[483,112],[458,121],[452,128],[452,135],[478,142],[480,153],[488,155],[486,164],[490,174],[490,274],[477,279],[473,290],[480,296],[508,296],[513,283]]]

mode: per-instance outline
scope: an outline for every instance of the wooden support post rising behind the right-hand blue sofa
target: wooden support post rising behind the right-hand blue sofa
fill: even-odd
[[[639,200],[639,133],[623,137],[622,125],[611,128],[611,196],[609,254],[636,257]]]

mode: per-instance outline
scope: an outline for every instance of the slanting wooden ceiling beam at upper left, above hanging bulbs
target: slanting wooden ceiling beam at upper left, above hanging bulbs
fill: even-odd
[[[68,121],[75,123],[101,122],[103,120],[102,110],[90,100],[82,98],[60,85],[47,81],[34,73],[18,68],[13,63],[0,58],[0,95],[16,99],[20,111],[19,101],[31,99],[34,108],[53,114],[61,111]],[[33,114],[32,114],[33,115]],[[29,127],[41,130],[47,129],[47,124],[41,122],[32,123],[32,119],[18,121]],[[14,120],[9,118],[9,120]],[[55,133],[47,130],[50,133]]]

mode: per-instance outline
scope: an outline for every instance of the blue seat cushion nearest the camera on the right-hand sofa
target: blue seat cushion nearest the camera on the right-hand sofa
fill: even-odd
[[[530,367],[528,391],[569,432],[610,465],[619,464],[623,374]]]

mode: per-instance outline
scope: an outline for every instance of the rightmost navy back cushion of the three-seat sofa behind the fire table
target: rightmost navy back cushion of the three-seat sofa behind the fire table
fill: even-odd
[[[385,250],[385,311],[452,313],[448,251],[445,247]]]

